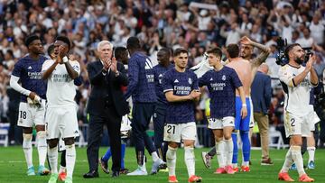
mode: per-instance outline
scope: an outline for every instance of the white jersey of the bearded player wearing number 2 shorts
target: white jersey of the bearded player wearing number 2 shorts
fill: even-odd
[[[298,76],[305,67],[293,67],[289,64],[279,69],[279,78],[284,91],[284,110],[298,116],[304,116],[311,111],[311,75],[308,73],[306,78],[297,86],[293,78]]]

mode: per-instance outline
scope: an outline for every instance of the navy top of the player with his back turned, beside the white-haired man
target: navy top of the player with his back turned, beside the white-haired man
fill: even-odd
[[[132,96],[134,103],[153,103],[157,97],[154,90],[153,64],[142,52],[135,52],[128,60],[129,84],[125,98]]]

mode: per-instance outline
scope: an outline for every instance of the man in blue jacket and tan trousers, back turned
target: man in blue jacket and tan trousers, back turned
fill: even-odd
[[[271,104],[272,88],[271,78],[267,75],[267,72],[268,66],[263,63],[259,67],[251,87],[251,95],[254,106],[254,120],[255,122],[257,122],[259,133],[261,136],[261,165],[273,164],[272,160],[269,157],[268,149],[269,119],[267,113]]]

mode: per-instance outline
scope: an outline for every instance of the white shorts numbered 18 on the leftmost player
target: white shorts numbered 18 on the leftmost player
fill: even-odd
[[[43,100],[45,102],[45,100]],[[21,102],[19,104],[18,126],[32,127],[33,125],[45,125],[44,121],[45,108],[36,105],[28,105]]]

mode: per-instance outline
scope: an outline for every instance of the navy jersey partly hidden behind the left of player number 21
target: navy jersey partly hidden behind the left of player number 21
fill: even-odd
[[[171,64],[167,68],[163,67],[162,65],[158,64],[153,67],[153,75],[154,75],[154,86],[155,86],[155,92],[157,95],[157,100],[160,103],[167,104],[166,96],[163,93],[163,74],[169,70],[172,69],[174,66]]]

